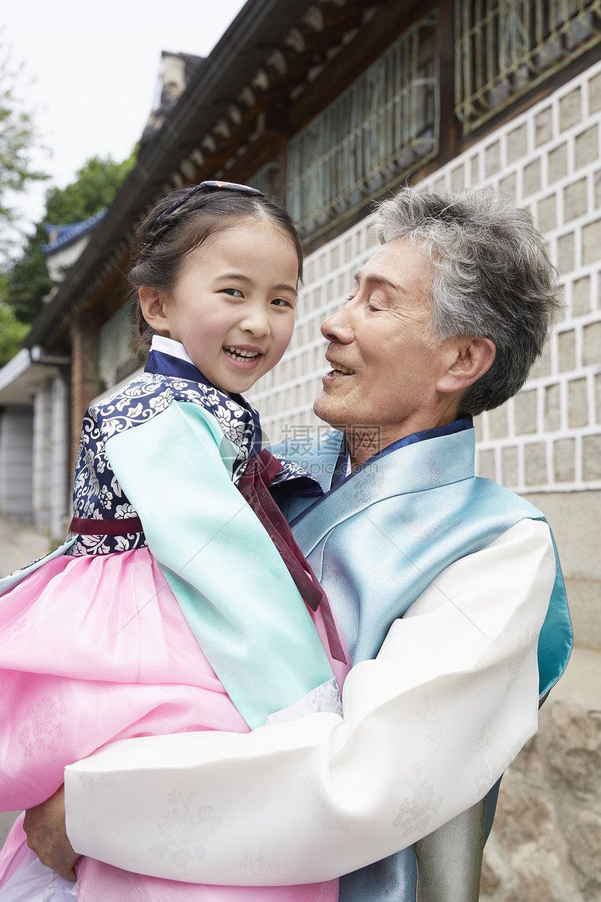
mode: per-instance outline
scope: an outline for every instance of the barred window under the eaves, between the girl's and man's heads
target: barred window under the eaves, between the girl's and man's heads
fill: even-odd
[[[315,235],[438,153],[436,10],[407,29],[287,146],[287,208]]]

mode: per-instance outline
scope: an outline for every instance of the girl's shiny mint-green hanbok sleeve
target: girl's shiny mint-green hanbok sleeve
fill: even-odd
[[[190,629],[250,727],[329,683],[311,616],[232,484],[227,461],[237,449],[214,418],[173,401],[105,447]]]

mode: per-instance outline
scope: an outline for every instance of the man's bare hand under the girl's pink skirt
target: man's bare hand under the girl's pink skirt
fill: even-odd
[[[25,812],[23,830],[27,833],[27,845],[42,864],[65,880],[77,880],[73,865],[79,856],[68,841],[65,827],[65,787]]]

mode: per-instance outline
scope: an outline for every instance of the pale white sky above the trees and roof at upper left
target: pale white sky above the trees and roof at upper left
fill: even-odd
[[[132,152],[157,96],[163,50],[208,56],[244,0],[13,0],[0,52],[33,116],[32,166],[50,174],[14,196],[21,226],[41,219],[50,186],[64,188],[92,156]],[[21,67],[21,69],[20,69]]]

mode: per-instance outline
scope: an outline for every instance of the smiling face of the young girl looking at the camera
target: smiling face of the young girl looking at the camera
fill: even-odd
[[[287,349],[295,323],[298,260],[265,222],[232,226],[187,254],[169,294],[141,288],[144,318],[181,342],[215,388],[248,391]]]

